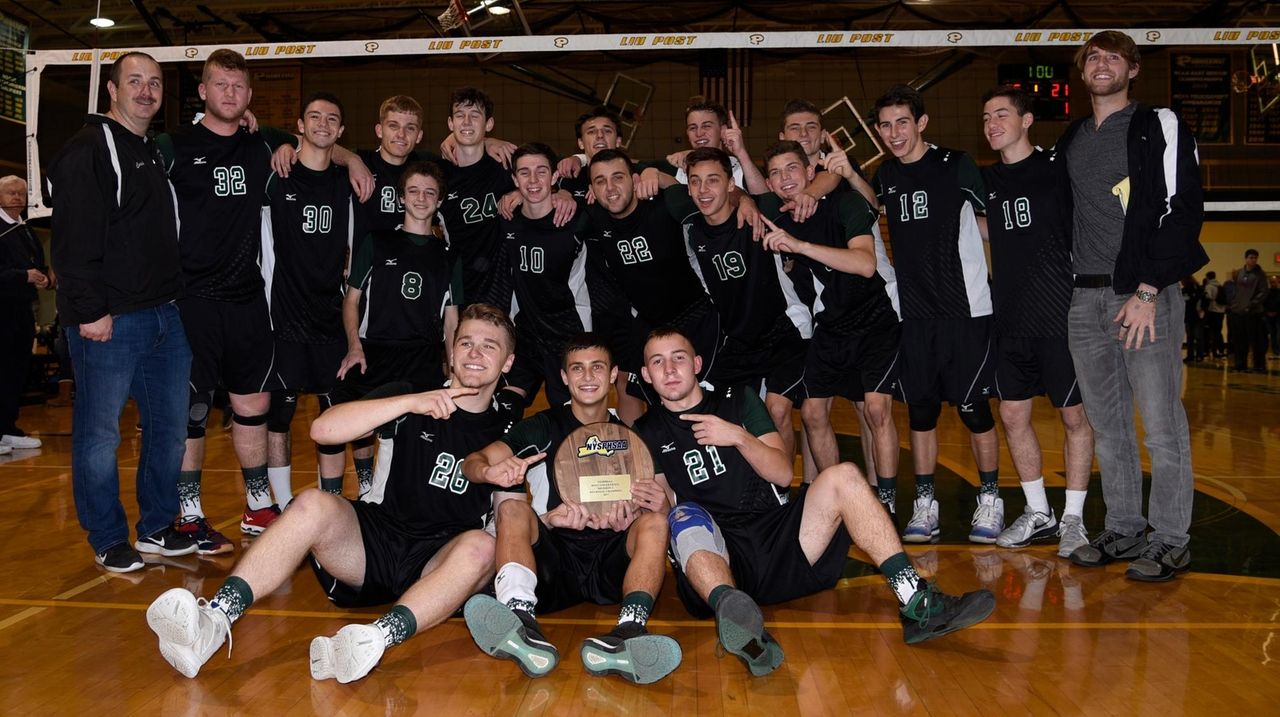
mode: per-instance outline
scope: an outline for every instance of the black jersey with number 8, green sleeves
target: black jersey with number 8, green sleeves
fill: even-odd
[[[378,343],[440,343],[444,307],[453,303],[444,239],[403,229],[371,232],[351,261],[347,284],[360,289],[360,338]]]

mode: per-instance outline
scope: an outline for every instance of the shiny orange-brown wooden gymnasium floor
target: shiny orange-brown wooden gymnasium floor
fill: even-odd
[[[1272,369],[1280,364],[1272,361]],[[312,636],[332,634],[374,611],[351,613],[324,599],[310,570],[262,597],[233,632],[230,658],[214,656],[196,680],[174,672],[156,650],[143,611],[168,588],[209,597],[233,557],[150,562],[113,575],[93,563],[76,520],[69,471],[70,408],[27,406],[22,425],[41,451],[0,457],[0,694],[6,714],[1266,714],[1280,700],[1280,371],[1229,374],[1221,366],[1185,373],[1197,479],[1193,571],[1162,585],[1130,583],[1124,566],[1083,570],[1051,545],[1021,552],[965,542],[977,474],[954,415],[941,428],[940,501],[943,543],[911,548],[923,572],[951,590],[987,586],[995,615],[980,626],[920,647],[902,644],[892,598],[881,577],[851,553],[837,589],[765,608],[786,649],[782,668],[751,679],[718,657],[713,624],[695,621],[664,592],[650,622],[685,650],[684,666],[645,688],[584,673],[577,645],[609,629],[612,607],[581,606],[544,616],[564,656],[554,673],[524,677],[511,662],[481,654],[461,620],[390,652],[351,685],[315,682],[307,671]],[[314,411],[314,407],[311,407]],[[216,414],[215,414],[216,416]],[[308,414],[294,424],[294,487],[314,484],[303,440]],[[899,406],[905,430],[905,411]],[[1061,504],[1061,429],[1038,405],[1046,476]],[[125,440],[124,503],[132,512],[137,462],[133,415]],[[837,430],[855,433],[847,407]],[[906,434],[904,433],[904,437]],[[856,456],[856,440],[842,442]],[[234,540],[241,479],[229,437],[210,429],[205,507]],[[910,466],[908,452],[902,462]],[[1146,457],[1144,457],[1146,462]],[[348,475],[347,485],[355,480]],[[905,481],[904,493],[910,493]],[[1023,499],[1002,448],[1001,484],[1009,520]],[[1085,511],[1101,526],[1094,480]],[[906,498],[904,498],[904,502]],[[900,508],[900,516],[909,510]],[[131,517],[132,520],[132,517]],[[905,520],[900,517],[900,520]],[[247,544],[247,543],[244,543]]]

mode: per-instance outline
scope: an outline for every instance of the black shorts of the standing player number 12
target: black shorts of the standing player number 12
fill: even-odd
[[[991,316],[904,319],[899,393],[906,403],[986,401],[996,373]]]

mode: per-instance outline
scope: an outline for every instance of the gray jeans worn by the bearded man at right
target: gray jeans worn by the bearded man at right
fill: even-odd
[[[1156,341],[1125,350],[1115,315],[1132,294],[1078,288],[1068,316],[1071,360],[1102,472],[1106,528],[1126,535],[1147,529],[1142,506],[1142,460],[1133,406],[1142,411],[1143,443],[1151,456],[1151,539],[1185,545],[1196,494],[1190,433],[1183,407],[1183,297],[1178,284],[1156,298]]]

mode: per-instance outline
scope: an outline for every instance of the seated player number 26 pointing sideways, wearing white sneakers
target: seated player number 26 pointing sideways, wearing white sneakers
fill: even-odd
[[[396,424],[383,502],[307,490],[244,553],[211,600],[182,588],[161,594],[147,608],[147,625],[160,638],[165,661],[195,677],[255,595],[270,594],[308,557],[334,604],[396,603],[372,624],[314,639],[316,680],[364,677],[387,648],[444,621],[483,588],[493,576],[493,539],[481,530],[493,487],[468,483],[461,465],[509,425],[493,392],[511,369],[513,337],[506,314],[472,305],[453,339],[449,388],[353,401],[316,419],[311,437],[323,444]],[[429,478],[421,480],[424,475]]]

